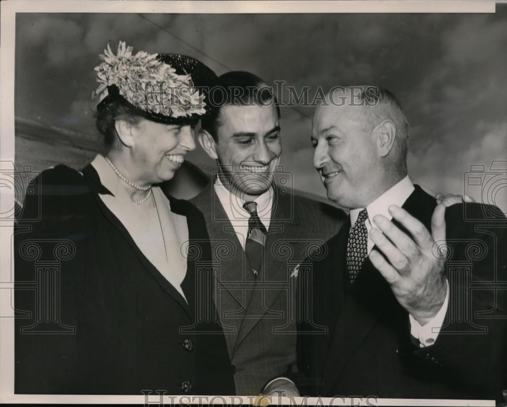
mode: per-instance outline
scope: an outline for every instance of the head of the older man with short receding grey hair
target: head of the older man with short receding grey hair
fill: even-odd
[[[330,91],[312,122],[313,164],[328,197],[348,208],[366,207],[403,178],[408,134],[390,92],[371,86]]]

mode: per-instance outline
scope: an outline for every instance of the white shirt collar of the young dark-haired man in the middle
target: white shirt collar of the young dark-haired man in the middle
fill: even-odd
[[[232,194],[227,187],[224,186],[220,177],[216,177],[214,190],[216,195],[219,197],[222,206],[225,209],[227,217],[231,221],[233,226],[244,226],[246,221],[246,227],[248,227],[248,219],[250,214],[243,208],[244,201]],[[269,229],[271,220],[271,209],[273,207],[273,187],[270,187],[268,191],[259,195],[253,201],[257,203],[257,214],[261,219],[266,230]]]

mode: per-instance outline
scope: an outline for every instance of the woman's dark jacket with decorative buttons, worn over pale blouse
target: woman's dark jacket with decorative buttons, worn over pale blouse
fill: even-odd
[[[83,173],[44,171],[18,221],[15,392],[234,394],[216,315],[196,317],[214,310],[202,284],[213,279],[202,214],[169,197],[195,254],[182,283],[187,305],[103,204],[98,194],[109,192],[95,169]],[[28,221],[39,208],[41,220]]]

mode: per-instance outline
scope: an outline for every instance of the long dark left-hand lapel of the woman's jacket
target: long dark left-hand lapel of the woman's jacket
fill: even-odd
[[[83,176],[87,183],[89,184],[90,190],[93,192],[94,198],[97,201],[97,205],[99,206],[100,210],[102,211],[105,218],[115,227],[115,229],[125,238],[125,240],[129,243],[131,246],[133,252],[139,259],[140,263],[143,265],[143,267],[148,270],[151,275],[155,278],[157,283],[161,286],[161,288],[167,292],[175,301],[177,304],[179,304],[187,313],[190,319],[193,318],[193,314],[191,313],[191,310],[189,308],[189,305],[185,302],[185,299],[182,297],[182,295],[172,286],[169,281],[165,279],[165,277],[153,266],[153,264],[144,256],[144,254],[139,250],[137,245],[135,244],[134,240],[128,233],[127,229],[123,226],[123,224],[120,222],[120,220],[111,212],[109,208],[102,202],[98,194],[111,194],[110,191],[108,191],[101,183],[100,178],[98,176],[97,171],[91,164],[88,164],[83,169]],[[189,219],[187,217],[187,223]],[[189,239],[191,239],[190,235],[190,229],[189,229]],[[187,276],[192,273],[191,268],[187,268]],[[187,277],[186,277],[187,278]],[[188,291],[188,290],[187,290]],[[185,292],[185,290],[184,290]],[[185,292],[185,295],[187,295],[187,292]],[[188,297],[187,297],[188,299]],[[193,301],[192,301],[193,302]],[[189,304],[191,304],[191,301],[189,299]]]

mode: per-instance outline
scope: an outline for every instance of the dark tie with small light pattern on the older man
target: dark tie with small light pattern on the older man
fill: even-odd
[[[351,284],[354,283],[368,255],[368,229],[366,229],[365,225],[366,219],[368,219],[368,212],[366,209],[363,209],[359,212],[354,226],[350,229],[347,243],[347,269]]]

